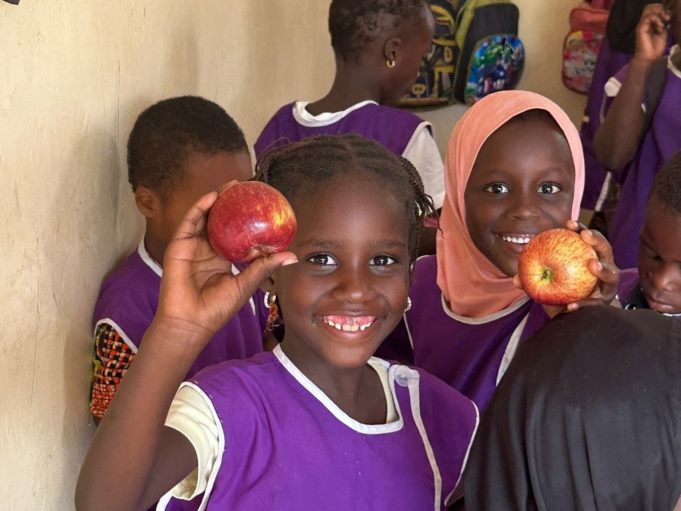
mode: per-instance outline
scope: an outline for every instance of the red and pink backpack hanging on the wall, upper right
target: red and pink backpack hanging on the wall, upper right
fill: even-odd
[[[571,91],[588,94],[608,14],[586,2],[570,13],[570,31],[563,43],[563,84]]]

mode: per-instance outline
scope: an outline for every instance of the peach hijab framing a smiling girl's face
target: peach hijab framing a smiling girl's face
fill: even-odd
[[[445,157],[445,204],[437,236],[437,285],[452,312],[482,318],[518,303],[527,295],[513,285],[473,245],[466,227],[464,191],[482,144],[512,117],[539,108],[556,120],[569,143],[575,164],[572,218],[580,214],[584,191],[584,153],[580,135],[558,105],[528,91],[500,91],[474,104],[456,123]]]

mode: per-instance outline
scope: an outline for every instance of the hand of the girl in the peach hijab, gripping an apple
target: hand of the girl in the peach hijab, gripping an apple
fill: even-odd
[[[575,312],[584,307],[611,305],[615,301],[617,285],[620,282],[620,270],[615,266],[612,247],[603,234],[595,230],[588,230],[582,223],[574,220],[568,220],[565,224],[565,228],[574,232],[579,232],[582,241],[591,245],[596,251],[598,260],[589,261],[588,268],[589,271],[597,277],[598,281],[594,290],[589,296],[584,298],[584,300],[569,303],[565,306],[544,305],[544,311],[550,318],[554,318],[554,316],[564,312]],[[516,288],[522,289],[520,277],[518,277],[518,275],[513,277],[513,284],[516,285]]]

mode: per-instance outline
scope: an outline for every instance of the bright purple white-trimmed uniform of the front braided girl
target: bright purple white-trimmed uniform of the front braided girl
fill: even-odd
[[[185,385],[210,401],[223,454],[202,502],[164,497],[159,509],[444,509],[477,409],[424,371],[380,362],[398,420],[378,425],[347,416],[279,346],[202,371]]]

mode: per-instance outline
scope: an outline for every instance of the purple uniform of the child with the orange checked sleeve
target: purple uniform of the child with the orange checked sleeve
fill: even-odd
[[[233,268],[238,273],[236,268]],[[95,331],[108,323],[137,352],[142,336],[151,324],[159,305],[161,267],[149,257],[144,241],[101,287],[95,306]],[[248,358],[262,352],[262,332],[267,314],[262,294],[256,294],[210,342],[189,369],[191,377],[204,367],[232,358]]]

